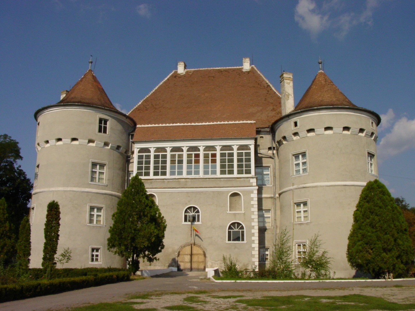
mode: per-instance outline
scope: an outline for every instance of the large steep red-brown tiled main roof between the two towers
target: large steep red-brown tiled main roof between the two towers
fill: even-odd
[[[243,71],[242,67],[186,69],[184,74],[173,71],[168,75],[129,112],[129,116],[138,125],[255,121],[257,128],[264,128],[281,117],[281,96],[254,66],[248,71]],[[193,126],[175,126],[171,130],[180,131],[181,136],[170,133],[169,137],[194,135]],[[134,139],[145,139],[143,131],[137,128]],[[209,135],[203,134],[206,138],[212,135],[229,137],[234,134],[212,133],[211,130]],[[161,134],[151,137],[161,137]]]

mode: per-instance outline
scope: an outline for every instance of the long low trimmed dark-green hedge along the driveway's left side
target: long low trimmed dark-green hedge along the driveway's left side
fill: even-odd
[[[0,285],[0,302],[57,294],[75,289],[129,280],[130,272],[119,271],[103,273],[95,276],[91,275],[84,277],[52,279],[49,281],[29,281],[21,284]]]

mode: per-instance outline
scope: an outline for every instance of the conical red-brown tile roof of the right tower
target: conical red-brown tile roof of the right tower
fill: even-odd
[[[334,85],[325,72],[320,70],[298,102],[295,110],[325,106],[357,107]]]

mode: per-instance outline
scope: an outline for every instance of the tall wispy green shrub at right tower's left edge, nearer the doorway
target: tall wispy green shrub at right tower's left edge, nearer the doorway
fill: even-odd
[[[266,274],[270,277],[281,279],[294,277],[293,269],[293,245],[287,228],[284,228],[274,243],[271,254],[271,263],[267,267]]]

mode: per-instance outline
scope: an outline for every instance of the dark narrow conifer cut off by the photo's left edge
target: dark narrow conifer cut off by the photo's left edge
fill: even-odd
[[[7,203],[5,198],[0,199],[0,261],[8,264],[15,251],[15,235],[13,226],[9,224]]]

